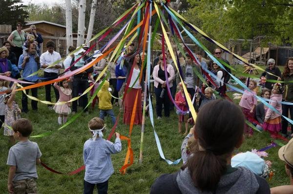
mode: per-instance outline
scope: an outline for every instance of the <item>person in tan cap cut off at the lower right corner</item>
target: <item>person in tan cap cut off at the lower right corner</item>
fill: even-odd
[[[290,185],[271,188],[271,194],[293,193],[293,139],[279,149],[279,158],[285,162],[286,174],[290,178]]]

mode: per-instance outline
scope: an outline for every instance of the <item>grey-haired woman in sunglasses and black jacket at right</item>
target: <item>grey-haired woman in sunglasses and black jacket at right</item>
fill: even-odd
[[[280,78],[281,71],[278,67],[276,67],[275,60],[273,58],[270,58],[268,60],[268,65],[269,65],[269,67],[266,68],[266,71],[263,72],[260,77],[264,76],[267,79],[273,79],[273,80],[277,80],[278,78]],[[273,74],[274,76],[268,74],[267,72]],[[273,85],[272,82],[266,81],[265,88],[272,90],[272,85]]]

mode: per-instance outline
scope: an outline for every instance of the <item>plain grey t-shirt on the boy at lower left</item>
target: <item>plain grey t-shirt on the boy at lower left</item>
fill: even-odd
[[[13,180],[38,178],[36,160],[41,156],[42,153],[36,142],[27,140],[12,146],[9,150],[6,164],[16,166]]]

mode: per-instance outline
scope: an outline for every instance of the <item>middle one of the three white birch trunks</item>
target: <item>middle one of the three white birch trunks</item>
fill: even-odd
[[[84,20],[85,20],[85,4],[86,0],[79,0],[78,3],[78,32],[77,32],[77,47],[84,44]]]

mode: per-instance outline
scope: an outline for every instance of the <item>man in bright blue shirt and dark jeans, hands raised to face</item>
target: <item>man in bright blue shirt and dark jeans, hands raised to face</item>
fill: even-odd
[[[23,57],[23,55],[20,56],[18,68],[22,70],[22,78],[23,81],[30,81],[36,83],[38,81],[38,76],[30,76],[32,73],[35,73],[40,69],[40,65],[35,60],[35,52],[36,52],[36,45],[33,43],[28,43],[28,55],[29,57]],[[22,86],[28,86],[30,84],[23,83]],[[29,90],[25,90],[26,94],[29,93]],[[32,88],[31,89],[32,96],[38,97],[38,88]],[[22,113],[27,113],[27,96],[22,92],[22,98],[21,98],[21,104],[22,104]],[[32,109],[38,110],[38,101],[32,100]]]

